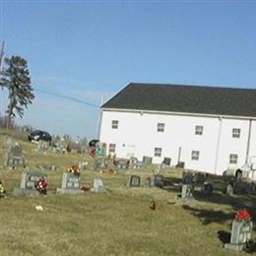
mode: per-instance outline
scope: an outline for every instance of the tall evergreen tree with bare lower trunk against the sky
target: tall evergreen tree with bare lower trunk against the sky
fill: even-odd
[[[32,103],[31,77],[27,60],[20,56],[5,58],[5,66],[0,76],[0,86],[9,91],[9,104],[7,113],[7,128],[10,127],[11,119],[18,114],[24,115],[24,107]]]

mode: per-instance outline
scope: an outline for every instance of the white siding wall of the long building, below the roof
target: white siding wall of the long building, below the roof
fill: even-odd
[[[111,129],[112,120],[118,120],[118,129]],[[164,123],[164,132],[158,132],[158,123]],[[195,134],[196,125],[203,126],[203,135]],[[232,138],[233,128],[241,130],[240,138]],[[139,160],[152,157],[155,163],[166,157],[176,164],[181,148],[180,160],[185,161],[186,168],[222,174],[230,154],[238,155],[237,166],[244,164],[248,131],[249,120],[103,110],[99,140],[116,144],[117,158],[133,154]],[[255,121],[251,140],[256,142]],[[161,157],[154,156],[155,148],[161,148]],[[199,160],[191,160],[192,151],[200,152]],[[255,143],[251,143],[252,153],[256,156]]]

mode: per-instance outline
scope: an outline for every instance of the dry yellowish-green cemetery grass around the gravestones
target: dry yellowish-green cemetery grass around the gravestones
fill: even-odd
[[[21,144],[25,168],[3,166],[8,136]],[[245,193],[245,182],[239,182],[230,197],[223,193],[224,178],[209,176],[212,196],[203,197],[196,187],[195,199],[182,201],[180,169],[168,169],[163,189],[127,188],[129,175],[141,176],[145,184],[157,166],[100,173],[94,171],[90,156],[34,149],[25,134],[0,132],[0,179],[7,191],[7,198],[0,199],[0,255],[237,255],[224,249],[236,211],[246,208],[256,218],[256,197]],[[63,172],[79,161],[89,162],[81,174],[82,185],[92,187],[97,177],[107,193],[56,194]],[[48,194],[12,196],[23,171],[47,174]],[[150,209],[152,200],[155,211]],[[255,230],[252,239],[256,240]]]

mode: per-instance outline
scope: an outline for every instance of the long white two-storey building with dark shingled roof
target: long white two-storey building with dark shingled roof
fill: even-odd
[[[256,160],[256,90],[131,83],[101,106],[99,140],[117,158],[223,174]]]

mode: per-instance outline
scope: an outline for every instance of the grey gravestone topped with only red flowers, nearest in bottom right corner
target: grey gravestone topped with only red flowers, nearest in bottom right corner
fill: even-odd
[[[232,221],[230,243],[224,244],[226,249],[241,251],[251,239],[252,221]]]

